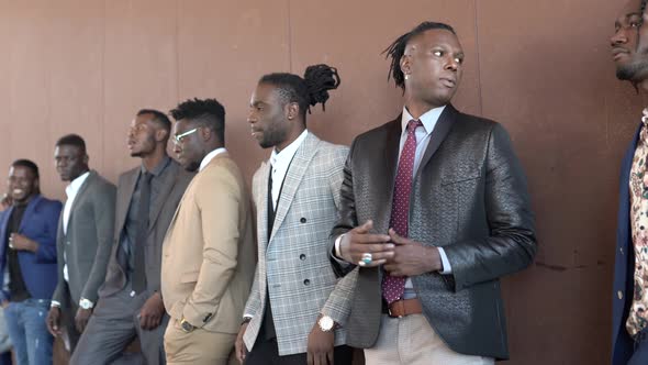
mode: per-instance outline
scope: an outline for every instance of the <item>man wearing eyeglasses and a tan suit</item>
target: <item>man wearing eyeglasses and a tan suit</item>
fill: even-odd
[[[234,364],[234,341],[255,269],[250,200],[225,146],[225,109],[193,99],[171,111],[175,152],[190,172],[163,245],[161,292],[171,317],[169,364]]]

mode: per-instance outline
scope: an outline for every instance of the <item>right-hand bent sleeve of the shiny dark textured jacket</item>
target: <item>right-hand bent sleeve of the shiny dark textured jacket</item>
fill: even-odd
[[[444,247],[457,291],[525,268],[537,250],[526,179],[500,124],[489,139],[484,200],[490,236]]]

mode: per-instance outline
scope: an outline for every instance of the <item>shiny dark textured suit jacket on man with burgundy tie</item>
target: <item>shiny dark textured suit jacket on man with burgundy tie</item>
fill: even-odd
[[[400,135],[399,117],[354,141],[333,240],[368,219],[387,233]],[[453,269],[412,277],[429,324],[458,353],[506,358],[500,277],[532,263],[536,237],[526,179],[500,124],[446,107],[412,181],[409,230],[414,241],[443,246]],[[332,263],[342,275],[358,272]],[[376,342],[381,279],[381,269],[359,268],[348,324],[353,346]]]

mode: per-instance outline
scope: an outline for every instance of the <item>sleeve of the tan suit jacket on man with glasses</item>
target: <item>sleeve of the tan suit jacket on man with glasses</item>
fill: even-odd
[[[217,311],[237,265],[239,206],[243,187],[222,166],[205,169],[209,174],[198,188],[195,204],[200,211],[203,251],[200,274],[193,292],[182,309],[189,323],[202,327]]]

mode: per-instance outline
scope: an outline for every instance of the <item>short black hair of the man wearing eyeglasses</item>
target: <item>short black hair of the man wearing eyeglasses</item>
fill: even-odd
[[[225,145],[225,108],[216,99],[189,99],[178,104],[170,113],[177,121],[187,119],[209,128]]]

